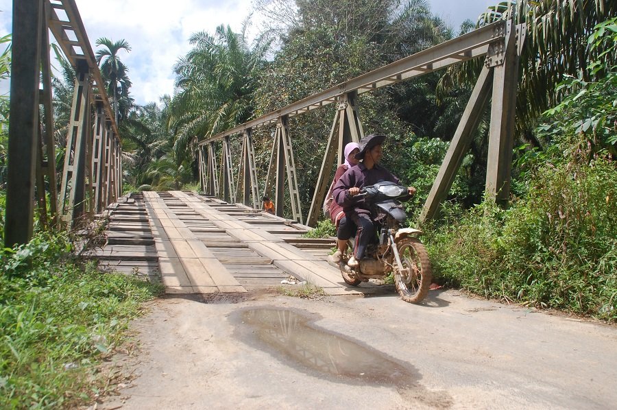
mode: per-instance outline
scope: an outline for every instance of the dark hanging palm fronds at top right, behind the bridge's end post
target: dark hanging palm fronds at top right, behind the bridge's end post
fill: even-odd
[[[598,60],[605,51],[592,49],[588,37],[593,27],[617,14],[617,3],[611,0],[519,0],[501,1],[480,16],[480,27],[500,19],[513,19],[527,26],[527,40],[521,56],[522,77],[518,86],[517,123],[521,133],[529,136],[535,119],[561,99],[555,92],[564,76],[587,78],[588,62]],[[617,64],[616,56],[603,56],[607,67]],[[466,64],[464,69],[448,69],[442,86],[460,84],[477,77],[479,64]],[[602,75],[603,73],[597,73]],[[523,98],[521,98],[523,97]]]

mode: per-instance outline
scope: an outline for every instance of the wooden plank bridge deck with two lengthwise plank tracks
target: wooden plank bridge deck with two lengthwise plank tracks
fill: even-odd
[[[167,293],[245,292],[289,276],[332,295],[375,290],[348,287],[326,261],[334,241],[304,239],[307,230],[193,192],[144,192],[114,206],[95,257],[104,269],[160,280]]]

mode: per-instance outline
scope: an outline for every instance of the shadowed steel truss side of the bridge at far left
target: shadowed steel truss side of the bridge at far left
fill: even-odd
[[[60,191],[49,31],[76,74]],[[122,192],[118,127],[75,1],[14,0],[12,42],[5,246],[32,237],[33,197],[43,226],[74,226]]]

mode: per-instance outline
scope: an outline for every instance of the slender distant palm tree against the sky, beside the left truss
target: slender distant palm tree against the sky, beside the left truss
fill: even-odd
[[[131,46],[129,43],[122,39],[118,41],[112,41],[109,38],[101,37],[97,40],[98,46],[105,47],[104,49],[97,50],[97,64],[101,67],[101,73],[109,81],[109,85],[114,98],[114,117],[118,122],[118,110],[119,99],[121,95],[128,97],[128,88],[131,86],[131,82],[128,79],[128,68],[121,62],[118,52],[121,49],[129,52]],[[118,86],[120,85],[121,94],[118,93]]]

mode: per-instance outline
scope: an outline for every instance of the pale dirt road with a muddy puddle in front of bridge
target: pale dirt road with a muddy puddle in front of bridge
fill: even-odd
[[[609,409],[617,327],[431,291],[169,298],[99,409]]]

